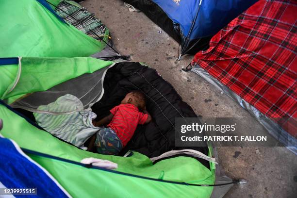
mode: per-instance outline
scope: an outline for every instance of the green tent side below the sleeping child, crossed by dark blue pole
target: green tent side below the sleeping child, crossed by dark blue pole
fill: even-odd
[[[209,170],[199,161],[191,157],[170,158],[152,165],[152,162],[147,156],[137,152],[133,152],[131,157],[92,153],[76,148],[55,138],[48,132],[37,129],[23,117],[16,115],[3,105],[0,105],[0,117],[4,123],[1,134],[4,137],[13,139],[22,148],[76,162],[80,162],[83,158],[87,157],[106,159],[118,164],[117,171],[154,179],[158,179],[161,172],[164,171],[163,179],[167,181],[197,184],[214,183],[214,170]],[[131,191],[131,196],[135,196],[137,194],[139,195],[139,190],[147,192],[148,188],[152,188],[151,195],[156,196],[165,194],[173,196],[177,192],[180,192],[181,195],[194,196],[197,195],[197,191],[199,191],[201,197],[209,197],[212,193],[212,187],[186,186],[163,183],[160,181],[148,181],[146,179],[123,176],[102,170],[88,169],[46,157],[30,156],[38,164],[45,167],[74,197],[90,197],[98,190],[100,192],[96,194],[100,195],[112,193],[112,195],[120,196],[122,192]],[[117,189],[118,186],[121,186],[119,188],[123,188],[124,191],[116,190],[110,192],[115,186]],[[139,189],[135,190],[136,186]],[[164,188],[167,189],[168,192],[164,191]]]

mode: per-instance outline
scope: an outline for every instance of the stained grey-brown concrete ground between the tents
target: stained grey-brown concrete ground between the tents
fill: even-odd
[[[85,0],[81,3],[110,29],[116,48],[132,61],[157,69],[203,117],[251,117],[228,96],[192,72],[181,71],[193,56],[176,62],[178,43],[143,13],[129,12],[122,0]],[[162,31],[161,33],[159,31]],[[255,125],[262,126],[255,120]],[[296,198],[297,156],[286,148],[221,147],[219,161],[226,175],[244,178],[226,198]]]

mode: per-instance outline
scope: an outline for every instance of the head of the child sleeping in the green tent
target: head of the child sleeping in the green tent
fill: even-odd
[[[121,104],[133,104],[139,110],[143,110],[146,106],[146,98],[141,91],[132,91],[125,96]]]

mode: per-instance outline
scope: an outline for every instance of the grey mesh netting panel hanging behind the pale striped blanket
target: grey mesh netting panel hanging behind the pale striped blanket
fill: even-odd
[[[48,105],[56,101],[59,97],[71,94],[77,97],[83,104],[83,109],[77,109],[77,111],[83,111],[102,97],[103,78],[107,69],[108,67],[104,67],[91,74],[83,74],[77,78],[58,84],[47,91],[28,94],[24,98],[16,100],[11,106],[38,113],[39,106]],[[49,111],[48,113],[65,114],[67,112],[67,110],[60,109],[55,112]]]

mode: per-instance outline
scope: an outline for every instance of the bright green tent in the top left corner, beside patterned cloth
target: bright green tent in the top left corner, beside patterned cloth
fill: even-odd
[[[106,45],[63,23],[36,0],[1,0],[0,13],[0,57],[90,56]],[[107,41],[108,29],[105,35]]]

